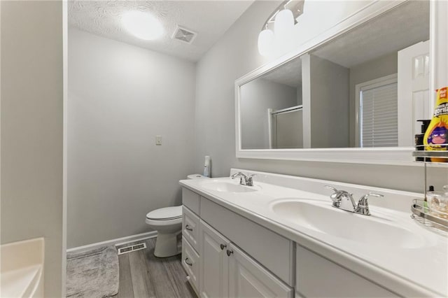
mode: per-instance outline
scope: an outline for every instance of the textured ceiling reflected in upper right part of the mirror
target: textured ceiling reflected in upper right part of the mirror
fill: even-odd
[[[429,39],[429,1],[408,1],[314,50],[350,68]]]

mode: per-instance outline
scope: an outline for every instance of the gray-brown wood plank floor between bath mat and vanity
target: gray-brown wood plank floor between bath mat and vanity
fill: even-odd
[[[142,241],[139,241],[142,242]],[[196,298],[181,264],[181,255],[154,257],[155,238],[146,241],[147,248],[118,256],[120,287],[114,298],[185,297]],[[126,246],[130,246],[130,243]]]

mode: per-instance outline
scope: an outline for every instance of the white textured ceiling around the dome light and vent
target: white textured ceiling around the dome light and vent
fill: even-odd
[[[69,26],[149,50],[197,61],[254,0],[247,1],[69,1]],[[121,15],[139,10],[158,17],[162,38],[142,41],[121,25]],[[172,39],[176,26],[197,32],[191,44]]]

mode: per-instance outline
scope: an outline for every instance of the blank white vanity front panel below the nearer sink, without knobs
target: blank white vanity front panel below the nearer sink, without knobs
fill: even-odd
[[[307,248],[297,245],[296,254],[295,290],[301,297],[398,297]]]

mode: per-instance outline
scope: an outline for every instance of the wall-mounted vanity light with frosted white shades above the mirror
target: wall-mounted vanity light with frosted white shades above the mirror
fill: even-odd
[[[262,56],[272,53],[274,45],[290,38],[297,17],[303,13],[304,0],[283,1],[274,13],[269,15],[258,34],[258,52]],[[272,26],[272,24],[274,24]],[[273,29],[271,29],[273,27]]]

